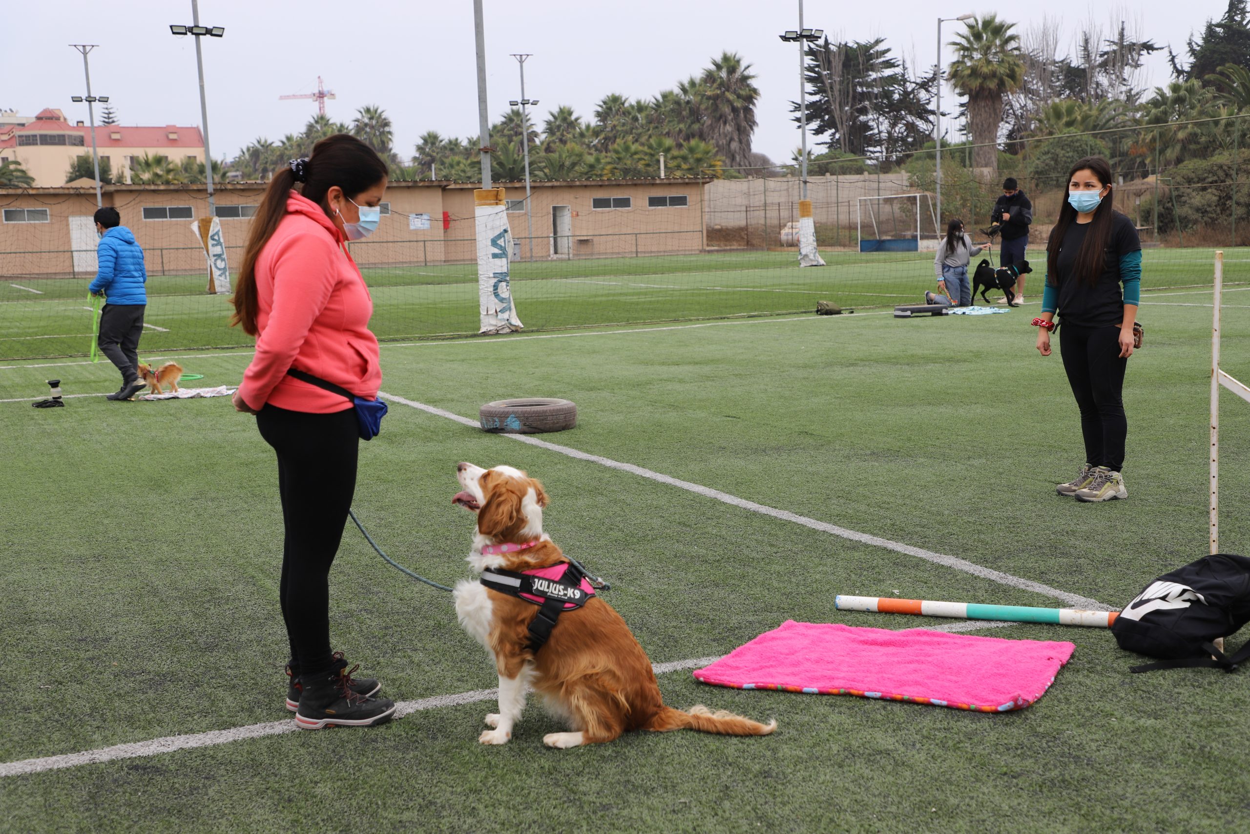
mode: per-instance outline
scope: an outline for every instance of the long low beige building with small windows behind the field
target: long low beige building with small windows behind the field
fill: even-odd
[[[516,258],[645,256],[706,248],[704,179],[505,183]],[[365,268],[468,264],[476,260],[474,189],[469,183],[391,183],[379,229],[350,244]],[[264,183],[215,188],[228,258],[238,270]],[[105,205],[121,214],[144,248],[150,275],[199,275],[204,254],[192,220],[208,216],[204,185],[106,185]],[[0,278],[95,274],[94,186],[0,189]],[[532,224],[532,235],[529,231]]]

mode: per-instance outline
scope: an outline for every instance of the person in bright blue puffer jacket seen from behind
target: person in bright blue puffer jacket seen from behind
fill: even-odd
[[[112,206],[95,213],[95,230],[100,235],[96,259],[100,271],[88,288],[92,295],[105,296],[100,311],[100,350],[121,371],[121,389],[109,394],[110,400],[129,400],[142,390],[139,379],[139,336],[144,331],[144,310],[148,309],[148,269],[144,250],[135,235],[121,225],[121,215]]]

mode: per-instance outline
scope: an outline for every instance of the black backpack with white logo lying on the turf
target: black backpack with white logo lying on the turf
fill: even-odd
[[[1215,648],[1250,621],[1250,559],[1202,556],[1150,583],[1111,624],[1121,649],[1161,663],[1132,671],[1209,666],[1232,671],[1250,660],[1250,641],[1231,656]]]

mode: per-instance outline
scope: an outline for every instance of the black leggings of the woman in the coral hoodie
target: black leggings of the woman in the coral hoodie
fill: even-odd
[[[286,531],[279,598],[291,661],[301,674],[328,671],[330,565],[356,490],[356,413],[306,414],[266,405],[256,426],[278,453]]]

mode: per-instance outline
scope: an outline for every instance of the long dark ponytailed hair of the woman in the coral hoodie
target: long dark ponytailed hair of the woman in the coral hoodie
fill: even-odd
[[[330,204],[326,203],[325,195],[331,186],[338,185],[350,199],[378,185],[388,175],[386,163],[376,151],[348,134],[336,134],[319,141],[312,146],[312,155],[302,168],[304,184],[299,191],[320,205],[326,216],[330,215]],[[230,326],[241,325],[244,333],[250,336],[256,335],[259,308],[256,259],[286,215],[286,199],[296,185],[295,171],[290,168],[274,174],[251,219],[242,266],[239,269],[234,298],[230,299],[235,308],[234,315],[230,316]]]

